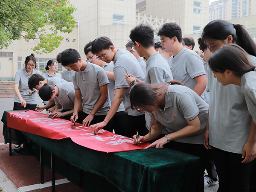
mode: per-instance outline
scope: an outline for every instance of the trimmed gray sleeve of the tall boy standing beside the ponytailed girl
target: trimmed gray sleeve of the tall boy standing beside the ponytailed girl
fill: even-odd
[[[186,62],[186,70],[189,73],[191,79],[201,75],[206,75],[203,61],[196,53],[189,55],[189,58]]]

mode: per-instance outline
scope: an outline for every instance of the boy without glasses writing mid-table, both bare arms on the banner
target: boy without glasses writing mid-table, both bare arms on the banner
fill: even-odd
[[[75,88],[75,106],[71,122],[78,119],[81,106],[81,96],[84,100],[84,109],[81,119],[84,126],[102,122],[107,115],[110,104],[108,102],[108,77],[102,67],[84,61],[76,49],[66,49],[61,52],[61,64],[76,73],[73,75]],[[74,118],[76,115],[76,118]],[[104,128],[112,130],[112,122]]]

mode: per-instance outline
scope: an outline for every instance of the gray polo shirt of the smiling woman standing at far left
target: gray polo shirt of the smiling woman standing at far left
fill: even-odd
[[[33,69],[32,74],[29,75],[29,73],[26,72],[26,68],[22,68],[16,72],[15,78],[14,78],[14,83],[19,85],[20,95],[29,105],[36,105],[38,103],[38,94],[37,93],[30,94],[30,89],[28,84],[29,78],[36,73],[41,75],[41,73],[35,69]],[[14,96],[14,102],[20,103],[19,98],[17,97],[16,94]]]

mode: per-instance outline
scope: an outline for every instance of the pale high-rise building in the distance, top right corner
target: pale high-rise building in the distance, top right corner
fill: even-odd
[[[209,6],[209,20],[231,20],[256,14],[256,0],[218,0]]]

